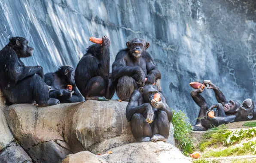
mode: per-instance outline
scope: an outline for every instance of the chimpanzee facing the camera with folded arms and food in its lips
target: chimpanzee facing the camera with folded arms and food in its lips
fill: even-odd
[[[116,55],[112,65],[112,81],[121,100],[129,101],[131,94],[143,85],[154,85],[161,91],[161,73],[146,49],[149,42],[135,38],[126,42],[127,48]]]

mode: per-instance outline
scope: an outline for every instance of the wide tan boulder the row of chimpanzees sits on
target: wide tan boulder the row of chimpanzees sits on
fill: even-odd
[[[35,161],[45,160],[40,155],[42,149],[50,152],[61,148],[66,150],[64,154],[80,151],[98,154],[133,142],[125,117],[127,104],[117,100],[88,100],[49,107],[14,104],[5,109],[5,114],[13,135]],[[56,144],[57,141],[65,145]],[[174,144],[172,125],[168,142]],[[63,158],[59,152],[53,155]]]

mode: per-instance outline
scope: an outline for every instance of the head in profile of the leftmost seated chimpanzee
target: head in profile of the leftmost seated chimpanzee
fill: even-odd
[[[32,56],[34,48],[28,46],[28,41],[23,37],[11,37],[9,41],[19,58]]]

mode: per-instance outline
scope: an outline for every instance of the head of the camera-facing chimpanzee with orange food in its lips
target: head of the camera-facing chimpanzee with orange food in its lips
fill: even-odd
[[[143,51],[149,47],[149,42],[143,39],[132,39],[130,42],[126,42],[127,48],[130,50],[129,53],[135,58],[139,58]]]

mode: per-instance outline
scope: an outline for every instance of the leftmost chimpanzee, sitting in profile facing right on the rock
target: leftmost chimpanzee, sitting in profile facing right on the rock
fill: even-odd
[[[27,43],[23,37],[11,37],[0,51],[0,90],[6,103],[37,103],[39,106],[60,103],[49,98],[43,67],[24,66],[21,62],[21,57],[30,57],[34,51]]]

